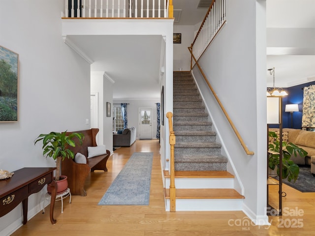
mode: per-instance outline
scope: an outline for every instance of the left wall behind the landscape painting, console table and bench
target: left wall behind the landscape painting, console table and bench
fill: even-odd
[[[53,167],[34,139],[50,131],[90,128],[85,124],[90,65],[63,43],[63,6],[63,0],[1,0],[0,45],[19,54],[19,121],[0,123],[0,169]],[[41,210],[45,191],[29,198],[29,218]],[[0,235],[21,225],[19,205],[1,217]]]

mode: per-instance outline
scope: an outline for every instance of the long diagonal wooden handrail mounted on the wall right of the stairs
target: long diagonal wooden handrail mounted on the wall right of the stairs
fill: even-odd
[[[188,50],[189,50],[189,52],[190,52],[190,54],[191,54],[191,57],[194,59],[196,65],[198,66],[198,68],[199,68],[199,70],[200,70],[200,72],[201,72],[201,74],[202,74],[204,80],[205,80],[206,83],[208,84],[209,89],[211,90],[212,94],[215,96],[217,102],[219,103],[222,112],[224,113],[225,117],[227,118],[228,122],[230,123],[230,125],[231,125],[231,127],[232,127],[234,133],[236,134],[236,136],[237,136],[238,140],[240,141],[242,147],[244,148],[246,154],[247,154],[247,155],[253,155],[254,152],[253,152],[253,151],[250,151],[250,150],[247,148],[247,146],[245,145],[245,143],[244,143],[244,141],[243,141],[243,139],[242,139],[240,133],[238,132],[238,130],[236,129],[236,127],[235,127],[234,123],[232,122],[231,118],[230,118],[229,115],[227,114],[227,112],[226,112],[225,108],[223,107],[223,105],[222,105],[222,103],[221,103],[219,97],[218,97],[217,94],[215,93],[215,90],[212,88],[211,84],[209,83],[209,81],[208,81],[208,79],[207,79],[205,73],[204,73],[203,70],[201,69],[201,67],[200,67],[200,65],[199,65],[199,63],[198,63],[198,61],[197,61],[196,58],[193,56],[193,54],[192,54],[192,47],[188,47]]]

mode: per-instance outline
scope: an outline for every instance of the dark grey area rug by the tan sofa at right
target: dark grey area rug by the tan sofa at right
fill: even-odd
[[[311,166],[301,165],[299,167],[300,173],[295,183],[289,182],[286,179],[283,180],[283,183],[289,185],[292,188],[295,188],[296,190],[299,190],[300,192],[315,192],[315,177],[313,177],[311,173]]]

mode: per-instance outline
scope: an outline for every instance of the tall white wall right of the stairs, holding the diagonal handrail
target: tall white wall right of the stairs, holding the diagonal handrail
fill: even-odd
[[[266,49],[266,29],[258,20],[259,25],[256,25],[256,4],[259,6],[257,18],[265,19],[263,2],[227,0],[227,23],[199,61],[229,117],[254,155],[245,153],[198,69],[193,69],[206,105],[210,108],[218,137],[224,141],[222,147],[232,160],[244,186],[243,209],[260,224],[268,220],[264,212],[267,144],[266,81],[263,74],[266,56],[262,53]],[[260,37],[259,40],[256,37]]]

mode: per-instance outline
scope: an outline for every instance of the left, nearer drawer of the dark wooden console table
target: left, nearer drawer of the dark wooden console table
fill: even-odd
[[[10,212],[28,197],[29,188],[24,186],[0,199],[0,217]]]

